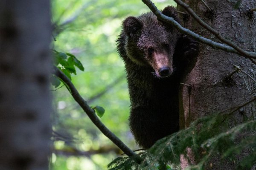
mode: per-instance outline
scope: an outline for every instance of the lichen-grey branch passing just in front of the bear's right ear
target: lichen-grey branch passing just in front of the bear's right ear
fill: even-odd
[[[157,16],[158,19],[163,20],[166,23],[170,23],[172,24],[172,26],[174,26],[178,31],[180,31],[183,34],[188,35],[189,37],[194,38],[195,40],[198,40],[199,42],[202,42],[204,44],[207,44],[209,46],[211,46],[212,48],[218,48],[221,49],[223,51],[227,51],[227,52],[231,52],[231,53],[236,53],[236,54],[241,54],[241,52],[238,52],[235,48],[230,47],[228,45],[224,45],[218,42],[214,42],[212,40],[209,40],[205,37],[202,37],[201,35],[195,34],[193,31],[190,31],[189,29],[183,28],[179,23],[177,23],[177,21],[175,21],[172,17],[167,17],[166,15],[163,15],[158,9],[157,7],[154,5],[154,3],[152,3],[150,0],[142,0],[143,3],[145,3],[148,8]],[[176,0],[175,0],[176,1]],[[244,51],[244,50],[242,50]],[[247,52],[244,51],[244,53],[246,55],[242,55],[246,58],[254,58],[256,59],[256,53],[254,52]]]

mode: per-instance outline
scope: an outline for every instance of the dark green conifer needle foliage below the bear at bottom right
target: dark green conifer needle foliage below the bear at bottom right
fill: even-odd
[[[254,99],[255,100],[255,99]],[[215,157],[236,163],[237,169],[249,170],[256,163],[256,119],[230,128],[229,113],[215,113],[202,117],[184,129],[167,136],[154,144],[148,151],[140,153],[141,164],[133,159],[116,159],[108,165],[110,170],[161,170],[168,169],[166,164],[172,164],[179,169],[180,155],[192,150],[198,164],[190,166],[191,170],[204,170],[211,167]],[[244,139],[239,140],[240,132],[247,132]],[[190,149],[189,149],[190,148]],[[242,155],[243,159],[237,160],[236,156]],[[161,165],[161,166],[160,166]]]

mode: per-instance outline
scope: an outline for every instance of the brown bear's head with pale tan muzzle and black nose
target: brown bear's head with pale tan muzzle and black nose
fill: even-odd
[[[162,13],[177,22],[177,11],[167,6]],[[168,77],[173,72],[173,54],[180,33],[170,24],[157,20],[152,13],[127,17],[123,22],[126,34],[125,51],[135,64],[154,69],[156,77]]]

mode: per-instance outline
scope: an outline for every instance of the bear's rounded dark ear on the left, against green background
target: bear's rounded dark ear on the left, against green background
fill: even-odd
[[[127,17],[123,22],[125,33],[131,37],[142,27],[142,22],[140,22],[136,17]]]

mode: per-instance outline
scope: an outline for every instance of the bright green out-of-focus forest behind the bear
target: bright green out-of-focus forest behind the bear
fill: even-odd
[[[176,6],[172,0],[155,0],[163,9]],[[55,30],[52,48],[75,55],[84,71],[72,74],[72,82],[90,106],[102,106],[101,121],[132,150],[137,149],[129,131],[129,97],[116,38],[122,20],[149,11],[137,0],[52,0]],[[60,88],[61,87],[61,88]],[[106,138],[65,86],[52,87],[54,98],[52,170],[104,170],[122,154]]]

